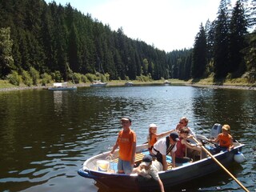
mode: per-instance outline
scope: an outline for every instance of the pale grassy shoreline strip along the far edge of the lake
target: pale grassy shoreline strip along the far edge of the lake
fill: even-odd
[[[145,84],[162,84],[162,82],[138,82],[137,85]],[[124,82],[108,82],[108,86],[124,86]],[[134,84],[136,86],[136,83]],[[235,85],[206,85],[199,83],[187,83],[187,82],[178,82],[171,83],[170,85],[185,85],[185,86],[195,86],[195,87],[205,87],[211,89],[235,89],[235,90],[256,90],[256,86],[235,86]],[[90,86],[90,83],[82,83],[73,86],[78,87],[87,87]],[[50,86],[15,86],[15,87],[6,87],[0,88],[0,92],[14,91],[14,90],[47,90]]]

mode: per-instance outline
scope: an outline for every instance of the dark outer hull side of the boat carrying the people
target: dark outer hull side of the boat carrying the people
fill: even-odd
[[[214,157],[222,163],[223,166],[228,166],[230,162],[234,162],[234,154],[242,150],[243,144],[234,147],[234,150],[215,154]],[[88,160],[87,160],[88,161]],[[90,162],[90,160],[89,160]],[[86,165],[86,162],[85,162]],[[163,185],[165,187],[176,186],[183,182],[188,182],[194,178],[200,178],[206,174],[213,173],[222,168],[210,157],[202,158],[193,163],[187,163],[183,166],[178,166],[171,170],[159,172]],[[98,170],[80,169],[78,174],[85,178],[93,178],[95,181],[102,183],[104,186],[111,188],[129,189],[129,190],[145,190],[159,189],[158,183],[153,180],[142,181],[138,176],[131,174],[111,174]]]

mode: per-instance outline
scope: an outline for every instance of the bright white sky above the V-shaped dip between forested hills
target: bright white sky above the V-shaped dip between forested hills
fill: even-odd
[[[47,3],[52,0],[45,0]],[[189,49],[199,26],[217,18],[220,0],[55,0],[159,50]]]

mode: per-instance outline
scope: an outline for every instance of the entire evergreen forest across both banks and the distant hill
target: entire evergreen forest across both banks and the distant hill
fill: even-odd
[[[70,4],[0,0],[0,78],[28,86],[38,79],[42,84],[67,81],[71,74],[76,83],[210,75],[255,82],[255,9],[256,0],[238,0],[234,7],[221,0],[215,20],[198,23],[192,49],[166,53],[127,37],[122,27],[111,30]]]

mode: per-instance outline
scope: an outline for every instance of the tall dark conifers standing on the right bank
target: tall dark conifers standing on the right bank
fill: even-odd
[[[255,3],[255,1],[253,1]],[[206,22],[194,41],[192,78],[203,78],[214,74],[222,79],[241,77],[246,71],[255,72],[256,58],[248,52],[254,51],[255,30],[249,34],[248,29],[254,26],[253,12],[255,5],[248,9],[247,1],[238,0],[234,7],[230,0],[221,0],[218,17],[214,22]],[[250,65],[248,65],[249,60]],[[255,74],[254,74],[255,75]]]

